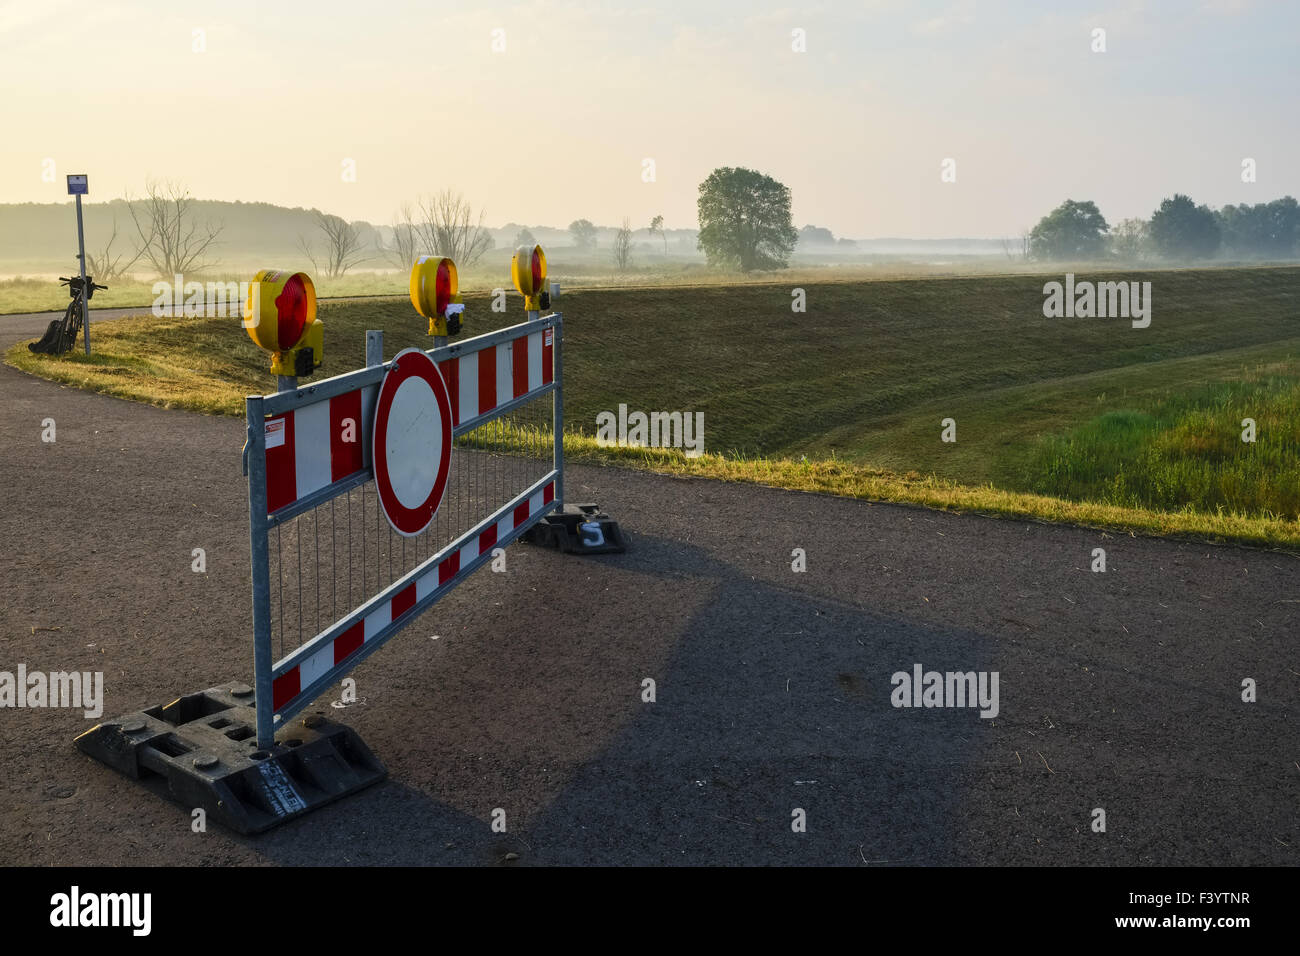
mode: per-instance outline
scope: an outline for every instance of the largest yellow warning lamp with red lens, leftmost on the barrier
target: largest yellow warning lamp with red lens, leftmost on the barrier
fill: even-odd
[[[263,269],[248,284],[243,326],[270,352],[270,371],[300,378],[325,360],[325,326],[316,317],[316,286],[306,272]]]

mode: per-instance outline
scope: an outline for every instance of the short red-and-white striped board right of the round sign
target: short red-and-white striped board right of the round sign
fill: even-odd
[[[451,395],[451,424],[460,425],[551,384],[555,329],[529,332],[438,363]]]

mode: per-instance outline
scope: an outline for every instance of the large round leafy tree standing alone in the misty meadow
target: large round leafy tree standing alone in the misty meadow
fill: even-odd
[[[798,233],[790,190],[753,169],[722,166],[699,183],[699,238],[710,265],[784,268]]]

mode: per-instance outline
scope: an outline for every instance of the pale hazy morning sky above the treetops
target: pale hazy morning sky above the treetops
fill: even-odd
[[[450,186],[493,226],[694,228],[744,165],[796,225],[993,237],[1300,195],[1297,120],[1300,3],[0,0],[0,202],[84,172],[92,202],[152,176],[390,222]]]

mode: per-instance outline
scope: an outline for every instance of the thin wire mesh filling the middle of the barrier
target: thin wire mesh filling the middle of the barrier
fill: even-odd
[[[269,528],[276,659],[419,567],[545,477],[554,464],[551,395],[484,423],[454,442],[447,489],[424,533],[394,532],[374,480]]]

